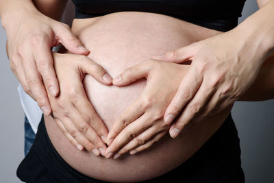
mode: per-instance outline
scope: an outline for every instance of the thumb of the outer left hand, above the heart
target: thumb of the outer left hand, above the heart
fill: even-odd
[[[69,52],[79,55],[88,55],[89,51],[82,42],[71,32],[68,26],[55,28],[55,36]]]

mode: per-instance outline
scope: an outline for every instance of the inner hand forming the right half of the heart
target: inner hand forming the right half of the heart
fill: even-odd
[[[108,134],[110,146],[105,151],[106,158],[111,158],[114,154],[114,158],[118,158],[127,151],[130,154],[143,151],[166,134],[170,125],[164,123],[164,112],[188,67],[148,60],[126,69],[113,80],[115,86],[125,86],[145,77],[147,86],[112,126]]]

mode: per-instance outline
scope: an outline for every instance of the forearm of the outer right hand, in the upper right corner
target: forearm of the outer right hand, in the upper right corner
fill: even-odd
[[[240,40],[250,47],[251,54],[260,64],[274,50],[274,0],[260,1],[262,8],[249,16],[232,31],[240,36]]]

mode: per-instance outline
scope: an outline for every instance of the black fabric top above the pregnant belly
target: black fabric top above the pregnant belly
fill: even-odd
[[[75,19],[113,12],[153,12],[226,32],[238,25],[245,0],[72,0]]]

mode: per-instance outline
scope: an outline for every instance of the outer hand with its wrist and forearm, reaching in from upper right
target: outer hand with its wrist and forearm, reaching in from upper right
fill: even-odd
[[[166,124],[171,124],[181,113],[169,130],[174,138],[193,118],[212,115],[240,99],[256,80],[274,51],[274,1],[258,1],[258,5],[260,10],[229,32],[160,57],[193,63],[164,114]]]

